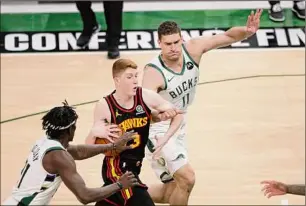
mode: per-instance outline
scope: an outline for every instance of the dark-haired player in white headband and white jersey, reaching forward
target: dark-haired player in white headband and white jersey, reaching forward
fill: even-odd
[[[69,145],[73,141],[77,118],[78,115],[67,102],[43,117],[42,126],[47,136],[35,143],[19,181],[2,205],[48,205],[62,181],[83,204],[102,200],[122,189],[138,185],[131,172],[106,187],[88,188],[85,185],[74,160],[87,159],[112,149],[116,149],[116,152],[130,149],[126,143],[134,139],[134,134],[125,133],[114,143],[105,145]],[[104,137],[105,131],[100,128],[101,125],[94,127],[92,134]]]

